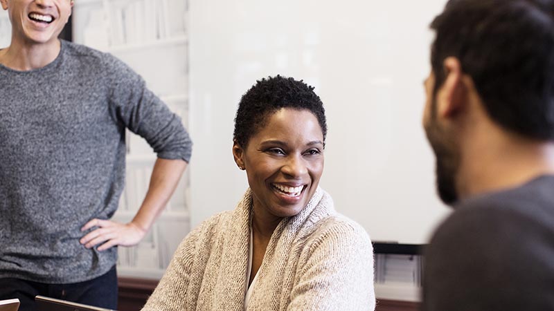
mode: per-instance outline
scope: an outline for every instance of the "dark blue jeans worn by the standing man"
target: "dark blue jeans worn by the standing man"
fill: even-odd
[[[79,283],[46,284],[11,278],[0,279],[0,300],[19,298],[19,311],[37,311],[37,295],[116,310],[116,267],[96,279]]]

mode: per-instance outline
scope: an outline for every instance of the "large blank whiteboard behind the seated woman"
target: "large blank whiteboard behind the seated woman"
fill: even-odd
[[[426,243],[449,209],[421,126],[429,30],[445,0],[191,0],[191,221],[233,209],[241,95],[268,75],[316,87],[328,117],[321,187],[373,241]]]

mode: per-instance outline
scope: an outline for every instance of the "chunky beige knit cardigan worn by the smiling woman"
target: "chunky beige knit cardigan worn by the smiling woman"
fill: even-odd
[[[244,310],[250,190],[233,211],[204,221],[179,245],[143,310]],[[374,310],[368,234],[316,193],[276,227],[247,310]]]

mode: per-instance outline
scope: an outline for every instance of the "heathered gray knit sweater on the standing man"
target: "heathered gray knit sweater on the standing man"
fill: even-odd
[[[159,158],[190,157],[179,117],[115,57],[62,41],[43,68],[0,65],[0,278],[86,281],[116,263],[79,243],[125,182],[125,127]]]

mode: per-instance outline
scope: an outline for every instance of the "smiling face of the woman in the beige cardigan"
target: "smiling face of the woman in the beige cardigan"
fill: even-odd
[[[233,156],[246,169],[256,211],[294,216],[319,185],[323,132],[310,111],[283,108],[267,117],[246,149],[235,143]]]

